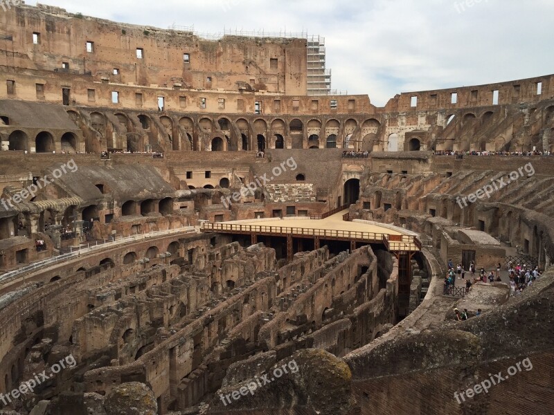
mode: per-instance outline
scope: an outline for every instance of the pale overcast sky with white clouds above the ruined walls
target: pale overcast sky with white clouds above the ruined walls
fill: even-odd
[[[131,24],[307,31],[332,88],[383,106],[400,92],[554,73],[553,0],[42,0]],[[36,1],[26,1],[36,4]]]

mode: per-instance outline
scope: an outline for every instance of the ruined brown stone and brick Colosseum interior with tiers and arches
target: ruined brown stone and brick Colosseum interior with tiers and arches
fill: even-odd
[[[1,414],[554,413],[554,75],[375,107],[314,37],[0,26]]]

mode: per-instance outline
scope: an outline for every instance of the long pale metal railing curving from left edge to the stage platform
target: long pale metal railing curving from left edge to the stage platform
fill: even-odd
[[[22,268],[17,268],[17,270],[12,270],[9,273],[2,274],[0,275],[0,282],[11,277],[17,277],[17,275],[28,273],[29,271],[34,271],[39,268],[44,268],[51,264],[55,264],[57,262],[64,261],[65,259],[69,259],[71,257],[77,257],[79,255],[93,252],[100,248],[111,248],[113,246],[123,245],[127,242],[140,241],[141,239],[161,237],[161,236],[166,236],[166,235],[176,234],[181,232],[191,232],[194,230],[195,228],[193,226],[187,226],[186,228],[178,228],[178,229],[172,229],[172,230],[162,230],[158,232],[137,234],[131,237],[116,239],[115,241],[105,241],[103,243],[102,242],[98,243],[98,241],[96,241],[96,244],[93,244],[93,245],[88,243],[87,248],[81,248],[81,247],[75,248],[75,249],[72,248],[71,252],[68,252],[66,254],[58,255],[57,257],[53,257],[53,258],[44,259],[44,261],[35,262],[34,264],[30,264]]]

